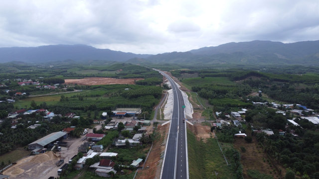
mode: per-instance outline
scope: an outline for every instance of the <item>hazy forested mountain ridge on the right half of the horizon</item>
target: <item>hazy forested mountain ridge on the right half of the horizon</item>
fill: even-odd
[[[153,63],[318,65],[319,40],[282,43],[255,40],[203,47],[188,52],[163,53],[147,58]]]

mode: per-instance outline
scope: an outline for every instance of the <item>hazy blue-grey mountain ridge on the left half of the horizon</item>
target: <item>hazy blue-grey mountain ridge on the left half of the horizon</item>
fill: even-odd
[[[150,55],[125,53],[109,49],[97,49],[87,45],[48,45],[39,47],[0,48],[0,63],[25,62],[47,63],[52,61],[127,61],[132,58],[146,58]]]

